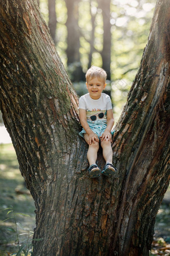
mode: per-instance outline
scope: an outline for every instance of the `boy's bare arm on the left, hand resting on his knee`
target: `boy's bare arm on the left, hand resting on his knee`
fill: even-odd
[[[81,123],[81,126],[83,127],[83,129],[85,130],[86,134],[88,135],[89,139],[88,139],[88,145],[91,144],[91,142],[99,142],[98,137],[96,134],[94,134],[92,132],[92,130],[90,129],[87,120],[86,120],[86,110],[79,108],[79,120]]]

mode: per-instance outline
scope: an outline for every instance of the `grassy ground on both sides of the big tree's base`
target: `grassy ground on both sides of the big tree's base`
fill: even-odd
[[[155,235],[150,256],[170,255],[169,206],[170,187],[157,213]],[[23,235],[22,233],[29,232],[31,234],[35,226],[34,202],[19,172],[18,162],[12,144],[0,144],[0,221],[12,217],[12,212],[7,214],[11,209],[4,210],[8,207],[12,207],[15,214],[22,213],[29,215],[16,214],[19,244],[26,245],[28,243],[28,235]],[[18,250],[16,233],[13,229],[15,230],[13,218],[0,222],[0,256],[8,256]]]

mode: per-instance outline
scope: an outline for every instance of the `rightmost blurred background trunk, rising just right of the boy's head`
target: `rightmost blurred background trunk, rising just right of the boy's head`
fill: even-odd
[[[102,10],[103,18],[103,47],[101,52],[102,68],[107,73],[107,79],[111,80],[111,24],[110,24],[110,0],[97,0],[98,8]]]

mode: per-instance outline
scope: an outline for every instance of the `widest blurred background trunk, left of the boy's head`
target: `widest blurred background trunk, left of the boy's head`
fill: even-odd
[[[79,54],[79,27],[78,27],[79,0],[65,0],[67,8],[67,67],[72,81],[84,80]]]

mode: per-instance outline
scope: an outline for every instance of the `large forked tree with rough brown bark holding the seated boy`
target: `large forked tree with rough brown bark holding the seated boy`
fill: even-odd
[[[0,4],[0,109],[35,201],[34,237],[43,240],[34,255],[148,255],[169,181],[169,1],[157,1],[116,125],[117,176],[93,180],[78,137],[77,96],[36,1]]]

